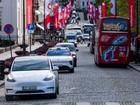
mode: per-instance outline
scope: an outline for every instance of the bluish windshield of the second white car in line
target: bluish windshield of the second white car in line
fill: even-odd
[[[70,51],[66,49],[61,50],[48,50],[48,56],[70,56]]]

